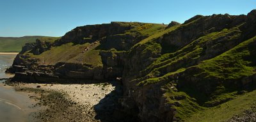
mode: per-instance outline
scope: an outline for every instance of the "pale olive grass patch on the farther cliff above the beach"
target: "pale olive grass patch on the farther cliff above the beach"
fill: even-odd
[[[97,45],[91,46],[89,43],[74,44],[67,43],[61,46],[52,47],[40,55],[29,55],[33,58],[38,58],[43,64],[56,64],[58,62],[73,62],[92,65],[102,65],[99,51],[93,50]],[[84,51],[84,48],[89,47],[90,50]],[[84,52],[83,52],[84,51]]]

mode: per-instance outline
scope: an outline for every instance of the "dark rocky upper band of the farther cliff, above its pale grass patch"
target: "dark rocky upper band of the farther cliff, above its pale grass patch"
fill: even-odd
[[[93,43],[100,41],[102,50],[109,50],[115,48],[116,50],[129,50],[131,46],[138,43],[141,39],[148,37],[143,35],[135,29],[138,26],[146,24],[141,23],[127,23],[127,22],[111,22],[111,24],[101,25],[86,25],[83,27],[76,27],[76,29],[67,32],[65,36],[61,37],[54,43],[54,46],[60,46],[65,43]],[[129,32],[129,30],[133,32]]]

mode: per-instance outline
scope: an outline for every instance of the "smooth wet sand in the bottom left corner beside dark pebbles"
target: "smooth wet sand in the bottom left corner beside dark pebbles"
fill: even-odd
[[[0,81],[0,119],[1,121],[36,121],[32,113],[39,111],[34,107],[38,101],[29,98],[35,93],[16,92],[12,86]]]

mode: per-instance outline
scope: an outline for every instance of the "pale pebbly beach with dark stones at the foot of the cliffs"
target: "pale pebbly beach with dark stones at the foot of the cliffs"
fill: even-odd
[[[100,121],[97,111],[102,109],[106,111],[103,107],[108,105],[105,104],[112,105],[113,102],[109,100],[116,99],[113,95],[116,86],[110,83],[76,85],[12,83],[11,85],[17,91],[39,94],[30,98],[39,101],[35,107],[46,108],[35,114],[35,118],[40,121]]]

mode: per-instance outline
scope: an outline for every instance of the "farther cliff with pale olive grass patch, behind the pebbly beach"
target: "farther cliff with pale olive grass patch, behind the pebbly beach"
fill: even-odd
[[[45,76],[50,82],[120,78],[125,51],[164,27],[138,22],[77,27],[54,42],[26,44],[8,72],[16,72],[13,80],[26,82],[45,82]]]

